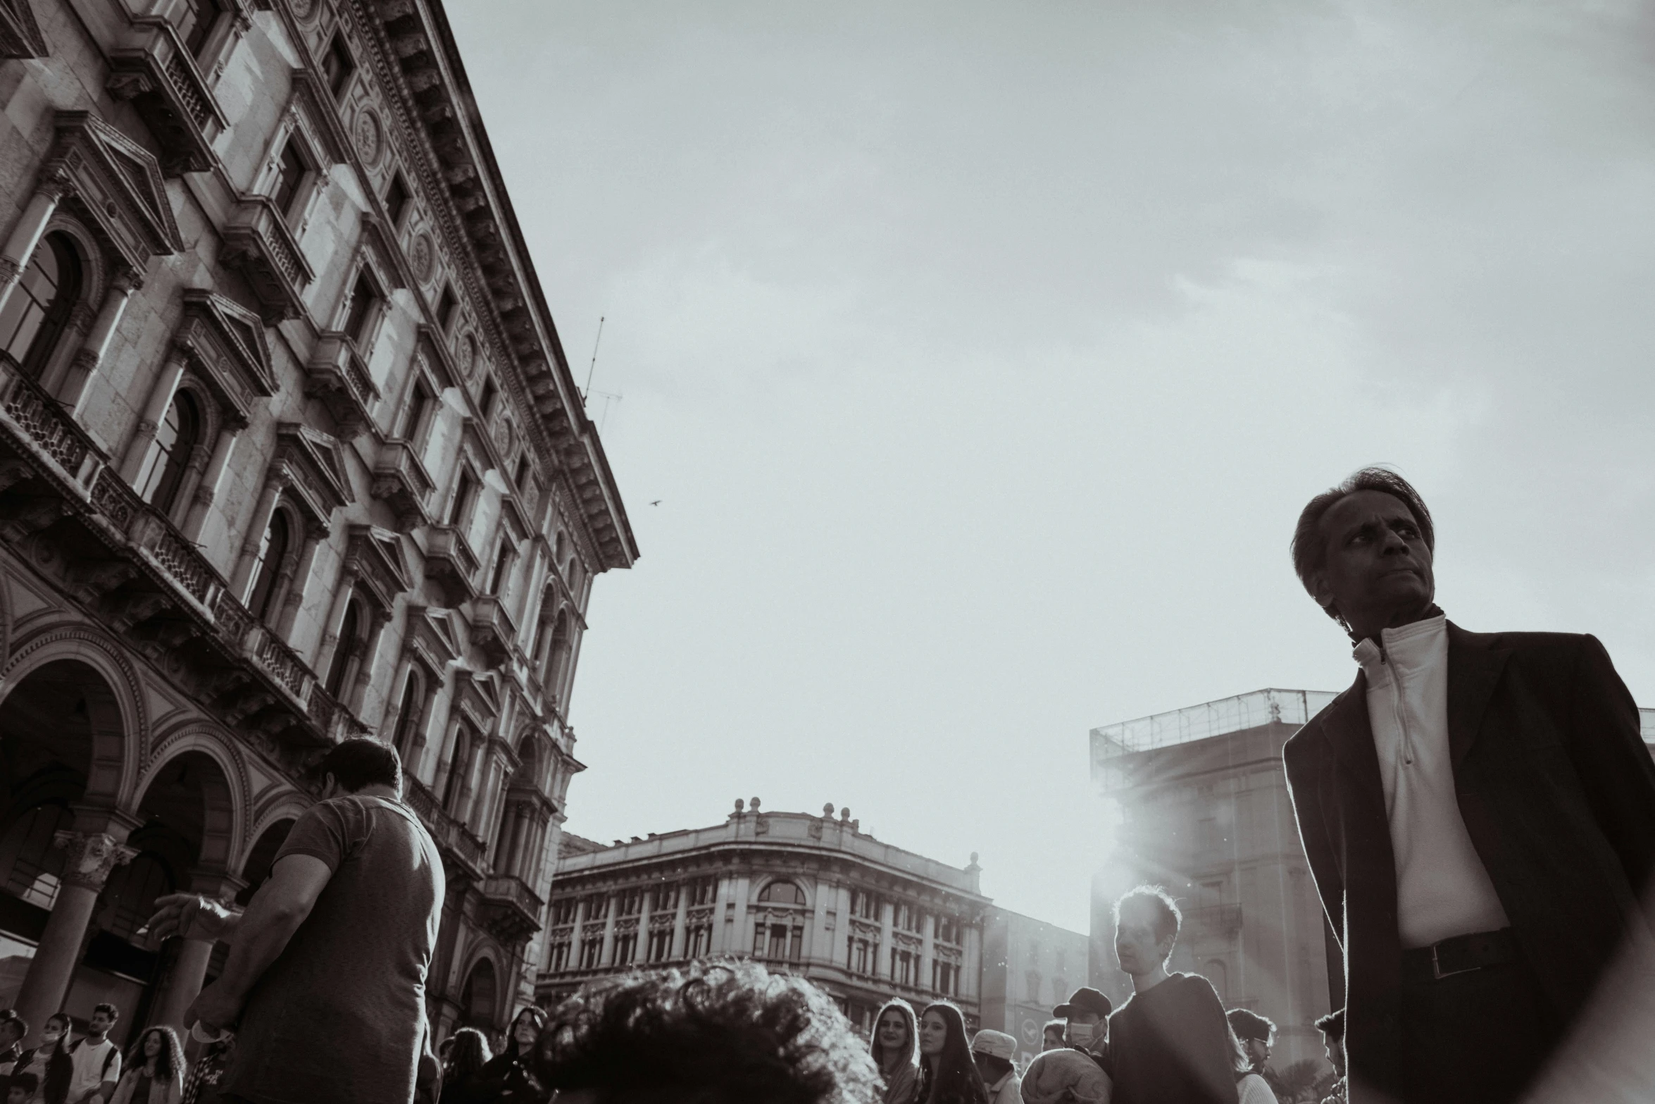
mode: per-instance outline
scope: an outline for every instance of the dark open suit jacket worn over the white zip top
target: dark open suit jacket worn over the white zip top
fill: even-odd
[[[1638,710],[1590,636],[1448,624],[1448,746],[1460,814],[1562,1026],[1632,925],[1655,867],[1655,763]],[[1367,679],[1283,748],[1299,838],[1344,947],[1346,1053],[1398,1096],[1397,871]]]

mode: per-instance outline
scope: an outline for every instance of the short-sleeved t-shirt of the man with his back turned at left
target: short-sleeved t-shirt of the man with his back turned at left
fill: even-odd
[[[442,859],[384,798],[311,806],[276,852],[333,871],[253,986],[222,1091],[261,1104],[407,1104],[425,1038]]]

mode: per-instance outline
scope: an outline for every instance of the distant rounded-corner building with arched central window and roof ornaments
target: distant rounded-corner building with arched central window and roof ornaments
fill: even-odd
[[[634,965],[743,955],[826,990],[857,1028],[902,996],[980,1010],[983,924],[967,867],[880,842],[834,818],[735,803],[723,824],[574,846],[558,859],[536,996],[553,1005]]]

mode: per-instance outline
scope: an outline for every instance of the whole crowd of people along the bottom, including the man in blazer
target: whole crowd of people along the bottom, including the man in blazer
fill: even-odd
[[[1293,540],[1360,665],[1283,753],[1347,982],[1346,1008],[1316,1025],[1321,1086],[1273,1076],[1266,1016],[1167,968],[1182,915],[1154,886],[1114,905],[1132,995],[1114,1008],[1077,990],[1021,1073],[1011,1036],[970,1033],[947,1000],[889,1001],[864,1043],[819,988],[741,960],[525,1008],[500,1053],[470,1028],[434,1046],[442,859],[401,801],[396,751],[353,738],[323,756],[321,799],[245,912],[157,902],[157,940],[228,942],[185,1013],[205,1043],[194,1064],[166,1026],[122,1056],[109,1005],[78,1039],[51,1016],[28,1049],[7,1011],[7,1102],[1509,1104],[1620,948],[1650,942],[1655,763],[1595,639],[1465,632],[1435,606],[1433,554],[1425,503],[1379,468],[1317,495]]]

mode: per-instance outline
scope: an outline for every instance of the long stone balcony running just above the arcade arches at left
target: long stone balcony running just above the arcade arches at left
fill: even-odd
[[[298,763],[308,748],[366,732],[7,356],[0,356],[0,540],[278,758]]]

